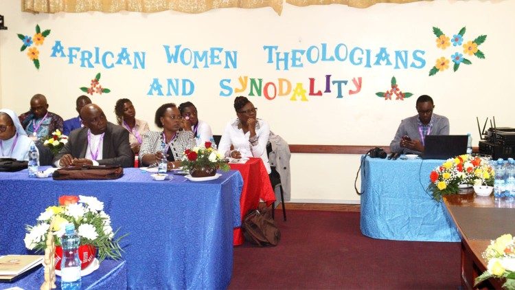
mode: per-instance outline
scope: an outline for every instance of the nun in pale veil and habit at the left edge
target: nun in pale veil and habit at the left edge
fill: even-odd
[[[32,144],[34,142],[27,136],[16,113],[0,109],[0,157],[28,160]]]

